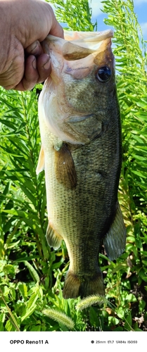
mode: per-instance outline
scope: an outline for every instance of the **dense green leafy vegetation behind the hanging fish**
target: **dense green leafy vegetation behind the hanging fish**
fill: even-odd
[[[58,4],[58,20],[71,30],[96,30],[87,0],[50,2]],[[132,0],[103,1],[103,11],[108,14],[106,24],[115,30],[123,142],[119,199],[127,227],[126,251],[110,262],[102,247],[104,304],[85,308],[80,298],[63,299],[68,253],[64,243],[58,251],[46,244],[44,172],[35,172],[41,84],[23,93],[1,88],[0,331],[147,329],[146,43]]]

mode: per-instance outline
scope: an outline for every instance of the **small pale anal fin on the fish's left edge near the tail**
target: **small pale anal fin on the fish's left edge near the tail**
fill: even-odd
[[[53,226],[51,223],[48,224],[47,230],[46,230],[46,241],[49,244],[50,247],[53,247],[53,249],[58,249],[60,247],[62,237],[56,230],[53,229]]]

